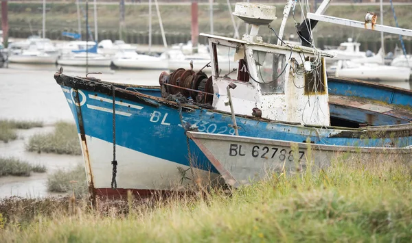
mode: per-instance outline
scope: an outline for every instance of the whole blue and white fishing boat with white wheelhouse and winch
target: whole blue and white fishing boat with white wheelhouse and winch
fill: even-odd
[[[217,179],[218,168],[187,138],[188,130],[330,146],[412,144],[410,127],[364,128],[409,125],[410,91],[346,79],[328,82],[327,53],[282,42],[282,28],[277,44],[258,36],[259,26],[275,18],[275,7],[237,3],[234,14],[252,24],[251,34],[241,40],[203,34],[211,76],[192,68],[163,72],[161,97],[152,88],[62,70],[54,75],[76,120],[93,198],[128,190],[147,196],[177,190],[195,177]],[[220,70],[227,59],[220,60],[218,49],[236,61],[228,73]]]

